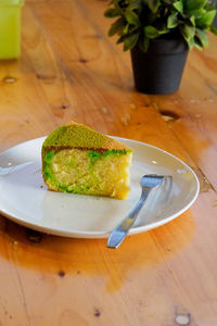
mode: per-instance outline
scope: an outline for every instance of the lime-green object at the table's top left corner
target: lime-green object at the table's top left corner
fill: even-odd
[[[0,0],[0,59],[21,54],[21,7],[23,0]]]

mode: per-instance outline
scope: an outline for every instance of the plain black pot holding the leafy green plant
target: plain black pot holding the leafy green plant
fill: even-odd
[[[153,39],[148,52],[131,50],[136,88],[144,93],[173,93],[181,82],[189,49],[181,39]]]

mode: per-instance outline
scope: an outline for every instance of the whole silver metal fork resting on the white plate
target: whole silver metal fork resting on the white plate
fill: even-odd
[[[138,201],[136,206],[131,210],[131,212],[112,231],[107,240],[107,247],[117,248],[123,242],[130,227],[133,225],[137,216],[139,215],[139,212],[143,206],[144,202],[146,201],[150,192],[153,189],[158,188],[167,179],[171,181],[170,176],[161,176],[161,175],[153,175],[153,174],[144,175],[141,178],[140,186],[142,187],[142,192],[141,192],[140,200]]]

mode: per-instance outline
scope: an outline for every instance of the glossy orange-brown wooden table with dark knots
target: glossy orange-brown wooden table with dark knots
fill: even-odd
[[[152,143],[196,172],[180,217],[118,250],[30,234],[0,217],[0,325],[217,325],[217,38],[193,50],[180,90],[135,91],[129,53],[106,36],[106,1],[29,0],[22,57],[0,63],[0,150],[71,120]]]

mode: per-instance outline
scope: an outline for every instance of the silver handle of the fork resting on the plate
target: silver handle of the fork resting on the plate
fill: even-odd
[[[126,238],[130,227],[133,225],[141,208],[143,206],[145,200],[152,188],[143,188],[140,200],[130,211],[130,213],[117,225],[117,227],[112,231],[107,240],[107,247],[117,248],[123,240]]]

